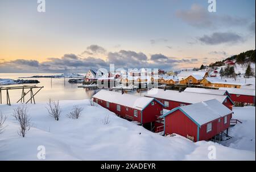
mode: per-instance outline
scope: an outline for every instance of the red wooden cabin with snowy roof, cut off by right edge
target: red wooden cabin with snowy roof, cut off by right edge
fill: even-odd
[[[255,89],[220,88],[228,91],[233,102],[255,106]]]

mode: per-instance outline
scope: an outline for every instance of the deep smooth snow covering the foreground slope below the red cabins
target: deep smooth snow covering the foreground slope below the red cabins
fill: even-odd
[[[46,148],[46,160],[210,160],[212,145],[216,160],[255,160],[255,108],[234,109],[234,118],[243,123],[230,129],[233,139],[222,143],[225,147],[207,141],[193,143],[178,135],[160,136],[100,106],[90,106],[89,100],[60,101],[60,121],[49,117],[46,103],[27,105],[33,127],[23,138],[12,117],[19,105],[0,105],[8,116],[0,135],[0,160],[38,160],[39,145]],[[81,118],[66,116],[73,105],[84,108]],[[102,123],[106,115],[109,124]]]

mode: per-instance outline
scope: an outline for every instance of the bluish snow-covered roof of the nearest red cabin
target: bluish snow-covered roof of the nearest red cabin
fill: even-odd
[[[200,126],[233,113],[217,100],[199,102],[197,104],[181,106],[179,108],[187,113],[189,117],[191,117]]]

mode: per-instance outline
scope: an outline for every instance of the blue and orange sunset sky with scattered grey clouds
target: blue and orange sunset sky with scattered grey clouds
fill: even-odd
[[[0,72],[199,67],[255,49],[255,0],[0,0]]]

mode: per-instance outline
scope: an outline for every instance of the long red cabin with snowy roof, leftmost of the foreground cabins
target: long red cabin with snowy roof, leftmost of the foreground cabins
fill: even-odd
[[[122,118],[141,124],[155,122],[162,115],[164,105],[155,98],[101,90],[93,101]]]

